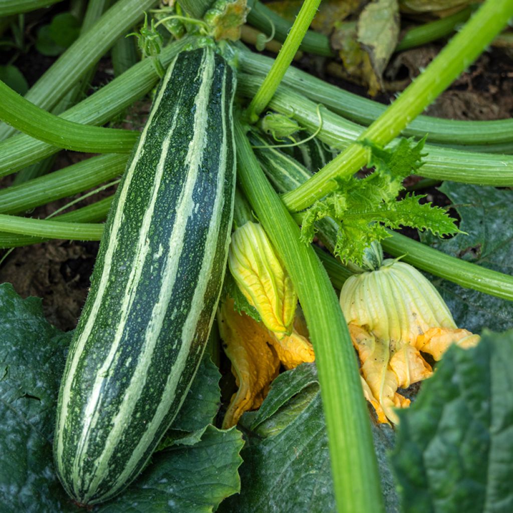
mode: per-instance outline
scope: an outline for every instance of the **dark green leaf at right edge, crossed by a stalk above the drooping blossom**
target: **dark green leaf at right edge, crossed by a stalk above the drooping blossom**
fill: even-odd
[[[444,182],[439,188],[446,194],[461,217],[459,233],[441,240],[428,233],[422,242],[478,265],[513,274],[513,203],[511,191],[495,187]],[[483,327],[502,331],[511,327],[513,302],[483,292],[460,287],[432,277],[458,326],[475,333]]]

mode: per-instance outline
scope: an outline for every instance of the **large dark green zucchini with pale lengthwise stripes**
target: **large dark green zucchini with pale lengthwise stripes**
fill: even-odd
[[[116,192],[58,398],[54,459],[78,503],[141,472],[198,368],[232,221],[234,80],[211,48],[179,54]]]

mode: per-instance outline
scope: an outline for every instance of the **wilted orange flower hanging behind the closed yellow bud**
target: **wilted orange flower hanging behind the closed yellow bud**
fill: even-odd
[[[260,407],[281,365],[291,369],[313,362],[315,357],[300,316],[290,336],[278,339],[263,323],[236,312],[233,300],[227,298],[218,309],[218,326],[238,386],[223,420],[227,429],[238,423],[245,411]]]

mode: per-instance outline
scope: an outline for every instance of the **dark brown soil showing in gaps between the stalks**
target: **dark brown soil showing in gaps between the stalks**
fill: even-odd
[[[63,3],[65,4],[65,3]],[[54,12],[54,11],[52,11]],[[45,15],[48,17],[48,15]],[[31,22],[32,23],[32,22]],[[48,23],[46,21],[45,23]],[[33,40],[34,26],[28,33],[29,41]],[[425,66],[440,50],[438,45],[429,45],[416,50],[403,52],[390,63],[386,77],[389,84],[402,83],[403,87],[419,73],[419,65]],[[3,52],[0,64],[10,62],[13,54]],[[19,55],[15,64],[22,70],[27,81],[32,85],[53,62],[55,58],[44,57],[37,53],[33,46]],[[366,95],[365,88],[341,80],[327,72],[327,62],[323,58],[304,56],[299,65],[331,83],[352,92]],[[112,66],[109,58],[102,59],[91,89],[100,87],[112,77]],[[513,115],[513,60],[499,48],[492,48],[482,55],[448,91],[428,109],[431,115],[450,117],[452,119],[490,120],[501,119]],[[392,88],[392,86],[390,86]],[[392,88],[393,89],[393,88]],[[374,100],[388,104],[394,95],[393,90],[381,93]],[[141,125],[141,117],[148,110],[148,102],[136,105],[131,112],[132,126]],[[72,162],[88,155],[61,152],[57,157],[55,169],[65,167]],[[0,185],[10,184],[11,177],[6,177]],[[410,181],[410,184],[414,180]],[[446,196],[436,188],[422,191],[427,193],[427,200],[440,206],[449,204]],[[105,192],[104,194],[107,194]],[[112,190],[109,191],[112,193]],[[95,201],[89,199],[88,201]],[[36,209],[32,216],[41,218],[56,208],[69,202],[70,199],[54,202],[44,208]],[[86,202],[81,203],[84,206]],[[417,237],[416,230],[405,230],[409,236]],[[48,320],[63,330],[72,329],[80,315],[87,296],[90,274],[98,249],[96,242],[51,241],[29,247],[15,248],[10,252],[0,267],[0,283],[11,282],[16,291],[27,297],[34,295],[43,298],[43,307]]]

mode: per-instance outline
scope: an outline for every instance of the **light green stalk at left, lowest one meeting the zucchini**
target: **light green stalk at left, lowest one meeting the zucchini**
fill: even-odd
[[[45,219],[19,218],[17,215],[0,214],[0,231],[34,235],[49,239],[70,241],[99,241],[103,225],[93,223],[63,223]]]

